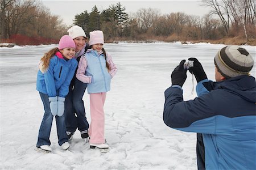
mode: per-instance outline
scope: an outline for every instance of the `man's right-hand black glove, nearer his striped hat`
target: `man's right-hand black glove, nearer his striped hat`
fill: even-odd
[[[207,79],[207,75],[205,74],[201,63],[196,58],[188,58],[188,60],[194,61],[194,66],[189,68],[189,72],[195,75],[197,83],[201,80]]]

